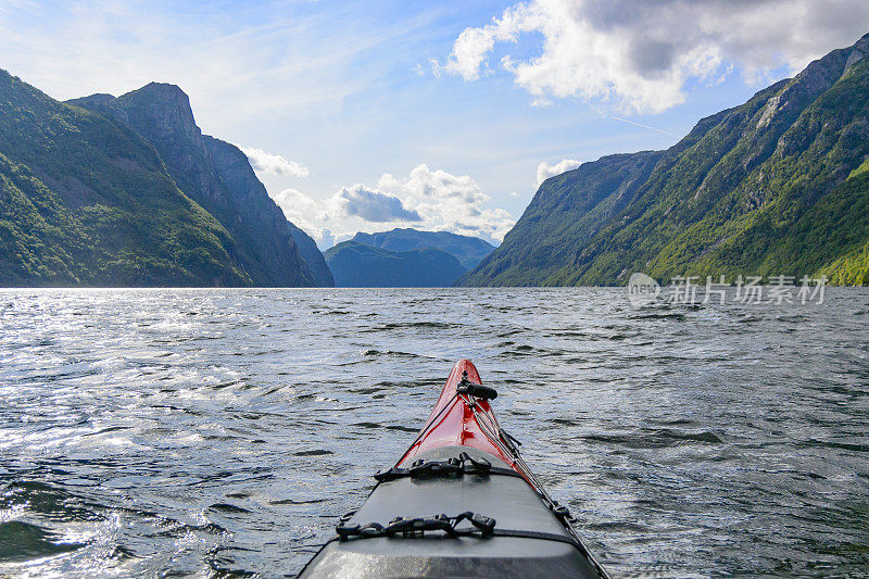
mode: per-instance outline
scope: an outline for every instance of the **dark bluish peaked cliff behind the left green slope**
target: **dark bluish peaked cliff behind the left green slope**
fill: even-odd
[[[248,159],[237,147],[202,135],[181,89],[151,83],[117,99],[95,95],[68,104],[110,116],[150,142],[178,188],[236,241],[238,260],[253,285],[315,285],[284,213]]]

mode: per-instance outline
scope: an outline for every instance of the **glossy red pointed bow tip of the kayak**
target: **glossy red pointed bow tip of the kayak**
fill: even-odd
[[[467,373],[467,375],[465,375]],[[507,452],[508,443],[500,440],[501,428],[488,400],[457,395],[456,388],[465,378],[468,382],[481,385],[480,374],[469,360],[459,360],[446,378],[443,390],[434,404],[434,410],[426,420],[417,440],[407,449],[395,466],[408,466],[417,454],[441,446],[471,446],[504,461],[511,468],[522,475],[533,486],[525,473]],[[481,424],[482,423],[482,424]]]

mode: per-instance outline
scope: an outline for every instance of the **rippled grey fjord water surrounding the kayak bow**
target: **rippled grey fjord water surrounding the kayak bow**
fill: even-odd
[[[616,576],[869,572],[869,291],[0,291],[0,576],[292,576],[473,358]]]

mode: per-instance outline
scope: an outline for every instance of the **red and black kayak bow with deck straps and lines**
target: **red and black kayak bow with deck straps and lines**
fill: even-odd
[[[299,577],[608,578],[499,425],[496,397],[458,361],[407,451]]]

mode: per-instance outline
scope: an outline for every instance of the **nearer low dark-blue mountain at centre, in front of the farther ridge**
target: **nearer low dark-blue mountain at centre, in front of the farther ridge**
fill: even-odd
[[[449,287],[465,273],[454,256],[431,248],[390,251],[351,240],[325,256],[335,285],[343,288]]]

